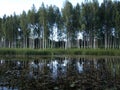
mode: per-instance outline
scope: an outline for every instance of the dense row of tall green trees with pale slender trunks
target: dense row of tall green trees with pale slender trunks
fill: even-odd
[[[38,10],[33,5],[20,15],[4,15],[0,18],[0,47],[119,49],[120,1],[85,0],[76,6],[65,1],[61,9],[42,3]]]

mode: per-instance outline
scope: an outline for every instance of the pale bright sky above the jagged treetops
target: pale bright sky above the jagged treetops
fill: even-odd
[[[72,5],[76,5],[77,3],[84,2],[85,0],[68,0],[72,3]],[[103,0],[99,0],[101,3]],[[19,15],[24,11],[28,11],[31,9],[34,4],[36,9],[38,9],[42,2],[45,5],[56,5],[59,8],[63,7],[65,0],[0,0],[0,17],[3,17],[4,14],[11,15],[14,12]]]

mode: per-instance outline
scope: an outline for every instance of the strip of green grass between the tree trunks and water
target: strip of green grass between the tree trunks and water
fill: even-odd
[[[0,55],[108,55],[119,56],[117,49],[18,49],[0,48]]]

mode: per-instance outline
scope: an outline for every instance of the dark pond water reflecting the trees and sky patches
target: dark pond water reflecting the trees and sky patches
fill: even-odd
[[[1,58],[0,90],[120,90],[120,58]]]

